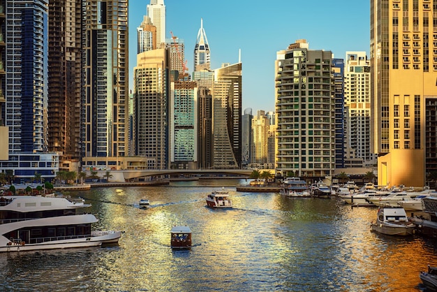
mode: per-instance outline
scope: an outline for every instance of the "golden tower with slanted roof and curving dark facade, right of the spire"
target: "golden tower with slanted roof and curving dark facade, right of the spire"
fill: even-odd
[[[214,168],[240,168],[242,163],[242,63],[214,70]]]

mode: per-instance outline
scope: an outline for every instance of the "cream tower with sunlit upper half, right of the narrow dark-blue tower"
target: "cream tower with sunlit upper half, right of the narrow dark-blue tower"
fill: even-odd
[[[376,163],[376,155],[371,153],[370,61],[366,52],[346,52],[344,75],[346,153],[355,154],[347,158],[361,158],[363,167],[369,167]]]

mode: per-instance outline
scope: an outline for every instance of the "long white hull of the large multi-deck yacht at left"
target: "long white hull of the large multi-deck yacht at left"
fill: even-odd
[[[115,244],[121,237],[121,231],[93,231],[90,237],[68,240],[52,240],[35,244],[13,243],[0,247],[0,252],[36,251],[45,249],[71,249],[78,247],[98,247],[102,244]]]

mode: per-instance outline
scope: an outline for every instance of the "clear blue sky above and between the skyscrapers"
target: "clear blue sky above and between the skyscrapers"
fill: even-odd
[[[136,65],[137,27],[149,0],[129,0],[129,75],[132,89]],[[184,40],[188,72],[193,71],[193,50],[200,19],[211,50],[211,68],[234,64],[242,52],[243,110],[274,111],[276,52],[304,38],[310,50],[330,50],[343,58],[346,51],[370,47],[368,0],[164,0],[166,37],[170,31]]]

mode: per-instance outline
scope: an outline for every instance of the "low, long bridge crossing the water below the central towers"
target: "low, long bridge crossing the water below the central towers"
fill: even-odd
[[[99,170],[98,176],[104,177],[107,170]],[[269,171],[274,174],[274,170],[259,170]],[[140,177],[161,177],[161,176],[238,176],[238,177],[249,177],[253,170],[248,169],[163,169],[163,170],[110,170],[112,182],[126,182],[128,180],[133,180]]]

